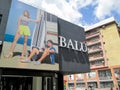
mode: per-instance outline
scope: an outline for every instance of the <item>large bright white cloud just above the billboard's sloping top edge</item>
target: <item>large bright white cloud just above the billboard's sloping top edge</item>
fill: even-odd
[[[80,18],[82,18],[82,14],[78,10],[79,8],[74,8],[71,2],[67,2],[66,0],[29,0],[29,2],[28,0],[19,1],[45,10],[73,23],[78,23]]]

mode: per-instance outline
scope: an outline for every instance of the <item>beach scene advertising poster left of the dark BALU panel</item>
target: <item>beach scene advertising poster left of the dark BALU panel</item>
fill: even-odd
[[[12,0],[0,67],[58,71],[57,29],[56,16]]]

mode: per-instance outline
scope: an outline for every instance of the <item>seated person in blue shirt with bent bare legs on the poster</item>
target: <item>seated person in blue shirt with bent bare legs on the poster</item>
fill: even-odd
[[[45,48],[42,48],[42,49],[44,50],[44,52],[41,55],[40,49],[38,47],[33,47],[29,57],[27,57],[27,59],[25,59],[25,60],[21,60],[21,62],[22,63],[30,63],[32,57],[36,54],[38,61],[35,61],[35,64],[41,64],[41,62],[47,56],[50,57],[49,60],[51,60],[51,64],[55,64],[55,51],[56,51],[56,49],[53,47],[53,41],[48,40],[47,45],[45,46]]]

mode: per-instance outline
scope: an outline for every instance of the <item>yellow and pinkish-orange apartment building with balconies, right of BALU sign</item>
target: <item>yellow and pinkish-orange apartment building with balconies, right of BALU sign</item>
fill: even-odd
[[[64,77],[68,90],[120,88],[120,27],[113,17],[86,28],[91,72]]]

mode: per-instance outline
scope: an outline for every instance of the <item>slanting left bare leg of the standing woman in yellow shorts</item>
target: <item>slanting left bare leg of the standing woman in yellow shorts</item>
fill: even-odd
[[[14,37],[14,41],[13,41],[11,47],[10,47],[9,53],[5,57],[9,58],[11,56],[11,54],[13,54],[13,51],[14,51],[15,46],[16,46],[16,43],[17,43],[18,39],[20,38],[20,36],[21,36],[20,33],[17,32],[16,35],[15,35],[15,37]]]

